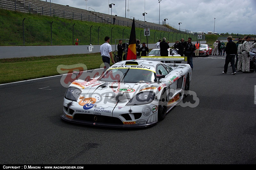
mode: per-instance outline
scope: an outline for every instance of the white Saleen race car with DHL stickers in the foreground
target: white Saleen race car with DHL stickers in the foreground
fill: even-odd
[[[120,61],[99,77],[73,81],[65,93],[61,118],[101,127],[148,127],[182,102],[191,76],[188,64]]]

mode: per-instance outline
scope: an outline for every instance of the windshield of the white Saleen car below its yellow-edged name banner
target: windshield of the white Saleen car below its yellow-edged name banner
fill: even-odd
[[[105,82],[145,83],[154,82],[156,80],[155,75],[156,74],[150,70],[133,68],[113,68],[109,69],[98,80]]]

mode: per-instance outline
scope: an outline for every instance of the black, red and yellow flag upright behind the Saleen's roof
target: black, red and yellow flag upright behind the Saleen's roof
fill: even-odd
[[[134,17],[132,21],[132,29],[129,39],[128,51],[127,51],[127,60],[137,59],[137,52],[136,52],[136,34],[135,34],[135,22]]]

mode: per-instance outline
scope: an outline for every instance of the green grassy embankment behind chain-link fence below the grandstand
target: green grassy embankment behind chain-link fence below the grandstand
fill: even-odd
[[[115,39],[130,37],[131,28],[120,29],[113,25],[90,26],[82,22],[67,22],[58,17],[55,21],[49,21],[0,16],[0,46],[99,45],[104,43],[105,36],[109,36],[110,43],[115,44]],[[150,30],[147,40],[144,29],[136,28],[136,38],[141,43],[156,43],[162,37],[166,37],[169,42],[180,41],[181,38],[186,40],[188,37],[197,40],[197,35],[157,30]],[[203,36],[201,41],[204,41],[204,38]]]

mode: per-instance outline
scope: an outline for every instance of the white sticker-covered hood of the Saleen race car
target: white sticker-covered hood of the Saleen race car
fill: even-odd
[[[116,83],[103,81],[76,80],[70,86],[79,88],[82,93],[77,102],[88,101],[89,99],[99,105],[125,105],[132,97],[142,91],[154,91],[156,94],[161,83]],[[86,99],[86,100],[85,100]]]

